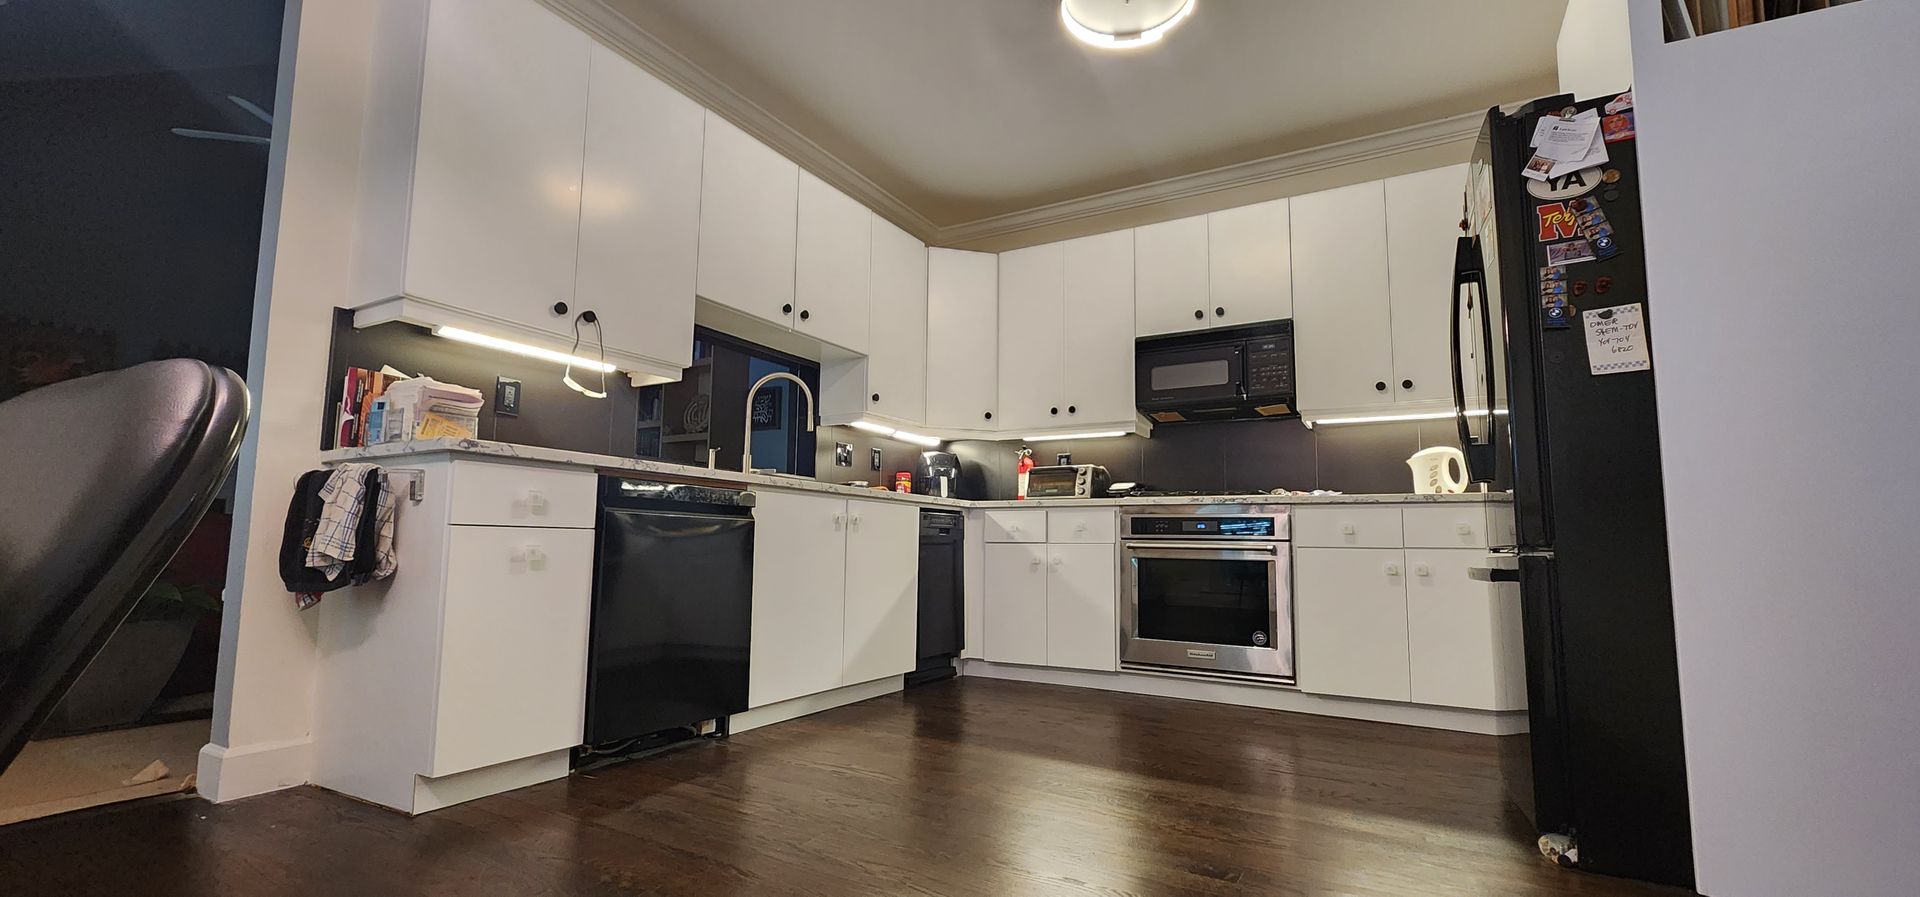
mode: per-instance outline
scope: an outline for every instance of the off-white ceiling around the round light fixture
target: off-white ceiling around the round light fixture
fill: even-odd
[[[605,0],[939,227],[1551,94],[1567,0]]]

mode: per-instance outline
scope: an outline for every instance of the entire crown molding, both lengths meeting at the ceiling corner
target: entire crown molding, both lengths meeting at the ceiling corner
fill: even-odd
[[[1407,125],[1377,134],[1356,136],[1332,144],[1265,156],[1260,159],[1194,171],[1144,184],[1123,186],[1073,200],[1035,206],[956,225],[935,225],[918,209],[893,196],[837,156],[806,138],[762,106],[741,96],[710,71],[616,12],[607,0],[541,0],[564,19],[580,25],[603,44],[618,50],[672,88],[689,96],[722,119],[732,121],[756,140],[772,146],[799,167],[820,177],[837,190],[893,221],[929,246],[968,246],[1025,230],[1071,225],[1116,211],[1148,207],[1164,202],[1206,196],[1267,181],[1281,181],[1313,171],[1352,165],[1404,152],[1442,146],[1480,133],[1486,111],[1469,111],[1419,125]]]

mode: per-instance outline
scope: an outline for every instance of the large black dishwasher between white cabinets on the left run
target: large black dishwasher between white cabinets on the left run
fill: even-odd
[[[601,478],[588,751],[747,709],[753,494]]]

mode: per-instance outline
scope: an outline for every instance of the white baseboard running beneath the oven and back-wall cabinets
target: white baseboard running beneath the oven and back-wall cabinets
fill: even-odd
[[[1231,703],[1269,711],[1344,716],[1350,720],[1392,722],[1398,726],[1444,728],[1480,736],[1526,732],[1526,711],[1463,711],[1417,703],[1363,701],[1354,697],[1309,695],[1290,688],[1240,686],[1233,682],[1162,676],[1152,672],[1062,670],[1012,663],[960,661],[962,676],[1041,682],[1048,686],[1098,688],[1135,695],[1179,697],[1187,701]]]

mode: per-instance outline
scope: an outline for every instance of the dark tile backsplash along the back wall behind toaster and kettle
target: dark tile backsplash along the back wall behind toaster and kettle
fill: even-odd
[[[1444,424],[1444,426],[1434,426]],[[1260,492],[1334,490],[1407,492],[1407,455],[1427,446],[1453,446],[1452,421],[1382,423],[1308,428],[1300,421],[1223,421],[1160,426],[1152,438],[1108,438],[1031,444],[1039,465],[1062,451],[1077,465],[1104,465],[1114,482],[1154,490]],[[1014,497],[1021,442],[964,440],[950,448],[972,474],[968,497]]]

